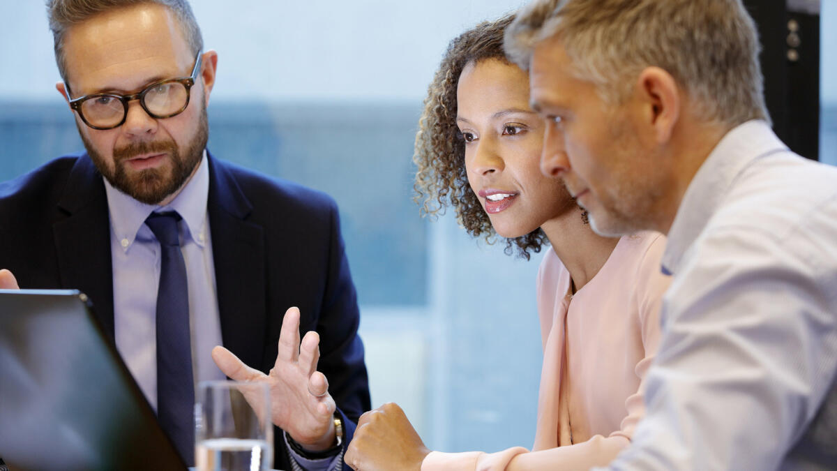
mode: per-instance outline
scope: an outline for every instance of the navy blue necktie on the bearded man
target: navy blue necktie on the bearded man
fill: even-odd
[[[177,231],[180,219],[173,211],[151,213],[146,219],[162,251],[157,291],[157,420],[187,466],[194,466],[195,386],[186,263]]]

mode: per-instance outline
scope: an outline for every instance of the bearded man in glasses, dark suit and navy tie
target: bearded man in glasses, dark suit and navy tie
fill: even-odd
[[[229,375],[270,382],[276,468],[340,467],[370,405],[336,204],[208,152],[218,54],[187,2],[54,0],[49,20],[86,152],[0,184],[0,287],[85,292],[189,465],[194,385]],[[160,218],[182,257],[164,251]],[[163,253],[182,285],[166,284]],[[182,338],[160,328],[164,291]],[[186,345],[176,367],[191,378],[162,377],[166,344]]]

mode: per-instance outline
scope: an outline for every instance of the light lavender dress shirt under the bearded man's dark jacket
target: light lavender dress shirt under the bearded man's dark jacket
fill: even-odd
[[[113,308],[116,349],[157,410],[157,287],[160,243],[145,224],[152,211],[176,210],[189,290],[193,380],[224,380],[210,352],[221,344],[207,199],[206,152],[198,171],[171,204],[144,204],[105,180],[110,210],[110,254],[113,263]]]

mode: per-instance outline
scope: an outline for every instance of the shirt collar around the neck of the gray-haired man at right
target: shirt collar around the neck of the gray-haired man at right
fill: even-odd
[[[727,132],[698,169],[680,201],[663,253],[665,274],[679,271],[686,251],[716,213],[742,170],[757,158],[781,150],[787,150],[787,146],[762,120],[745,122]]]

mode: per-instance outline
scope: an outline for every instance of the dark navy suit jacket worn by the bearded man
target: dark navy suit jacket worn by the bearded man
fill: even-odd
[[[300,332],[320,334],[318,370],[344,415],[348,443],[352,422],[371,406],[357,336],[357,295],[336,204],[326,194],[211,155],[208,163],[223,345],[247,365],[268,372],[285,309],[298,306]],[[0,268],[11,270],[21,287],[85,292],[113,337],[107,198],[86,153],[55,159],[0,184]],[[275,432],[275,467],[290,469],[282,433]]]

